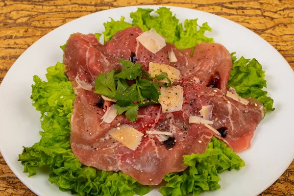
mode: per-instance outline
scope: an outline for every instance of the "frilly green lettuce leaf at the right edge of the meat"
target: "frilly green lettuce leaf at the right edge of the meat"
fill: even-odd
[[[235,52],[231,54],[233,68],[230,73],[228,87],[235,88],[236,92],[243,98],[256,98],[264,104],[267,111],[272,111],[273,99],[267,97],[268,92],[263,90],[267,87],[265,80],[265,72],[258,61],[253,59],[245,59],[243,56],[237,60],[234,56]]]

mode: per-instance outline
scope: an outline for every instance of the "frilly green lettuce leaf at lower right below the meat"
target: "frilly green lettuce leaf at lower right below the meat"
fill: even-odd
[[[189,167],[183,172],[172,172],[164,176],[167,185],[159,192],[163,196],[185,196],[221,188],[218,173],[225,170],[240,170],[244,161],[221,140],[213,137],[203,154],[184,155],[184,165]]]

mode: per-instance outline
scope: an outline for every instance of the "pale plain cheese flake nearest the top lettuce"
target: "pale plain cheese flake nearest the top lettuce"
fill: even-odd
[[[139,35],[136,40],[154,54],[167,45],[165,38],[159,35],[154,28],[145,31]]]

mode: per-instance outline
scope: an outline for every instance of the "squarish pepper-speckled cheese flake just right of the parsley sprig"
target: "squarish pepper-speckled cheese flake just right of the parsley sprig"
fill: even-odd
[[[180,111],[184,102],[183,88],[179,85],[169,88],[161,87],[159,103],[163,113]]]

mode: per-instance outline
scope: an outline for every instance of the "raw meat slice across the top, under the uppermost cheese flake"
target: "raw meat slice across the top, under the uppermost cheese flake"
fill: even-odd
[[[232,60],[229,51],[221,44],[200,43],[193,49],[176,49],[173,44],[156,54],[148,51],[136,41],[136,37],[143,33],[138,27],[130,27],[116,33],[112,40],[106,43],[107,53],[117,58],[133,59],[143,64],[148,71],[149,62],[171,65],[180,70],[183,78],[192,79],[210,87],[226,89]],[[170,63],[169,51],[174,51],[176,63]]]

